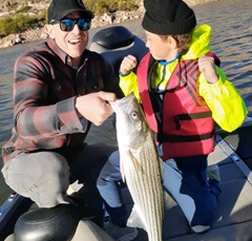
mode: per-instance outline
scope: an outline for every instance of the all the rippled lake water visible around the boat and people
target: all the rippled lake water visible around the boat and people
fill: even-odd
[[[251,0],[221,0],[219,2],[198,5],[193,8],[198,24],[207,23],[212,26],[212,51],[222,61],[222,69],[242,94],[252,117],[252,4]],[[123,24],[134,34],[144,39],[141,20]],[[97,30],[90,31],[90,38]],[[0,147],[8,140],[12,127],[12,71],[15,59],[26,49],[41,41],[0,49]],[[92,128],[89,141],[114,142],[110,135],[109,122],[104,123],[102,138],[100,129]],[[109,138],[109,140],[107,140]],[[0,158],[0,167],[1,167]],[[0,204],[10,193],[0,175]]]

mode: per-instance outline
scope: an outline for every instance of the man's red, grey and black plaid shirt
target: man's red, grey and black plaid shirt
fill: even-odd
[[[100,90],[122,97],[111,66],[85,50],[77,70],[53,40],[21,55],[14,67],[14,128],[4,163],[19,153],[83,145],[90,123],[75,109],[76,96]],[[92,104],[92,103],[90,103]]]

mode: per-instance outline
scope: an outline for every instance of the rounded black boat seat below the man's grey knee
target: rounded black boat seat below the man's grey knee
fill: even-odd
[[[15,241],[69,241],[80,216],[72,205],[38,208],[21,215],[14,228]]]

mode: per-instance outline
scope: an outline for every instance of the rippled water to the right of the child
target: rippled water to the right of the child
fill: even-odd
[[[252,116],[252,2],[220,1],[196,8],[213,28],[211,46],[222,69],[243,95]],[[205,13],[205,14],[204,14]],[[209,18],[209,14],[212,17]]]

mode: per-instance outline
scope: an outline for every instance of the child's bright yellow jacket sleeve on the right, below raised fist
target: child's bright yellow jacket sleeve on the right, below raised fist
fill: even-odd
[[[215,122],[225,131],[232,132],[242,125],[248,110],[241,95],[228,81],[223,71],[216,67],[218,81],[208,83],[203,73],[199,75],[199,95],[212,111]]]

